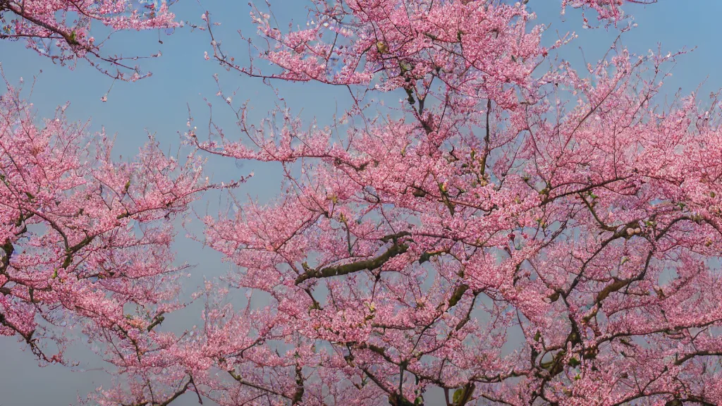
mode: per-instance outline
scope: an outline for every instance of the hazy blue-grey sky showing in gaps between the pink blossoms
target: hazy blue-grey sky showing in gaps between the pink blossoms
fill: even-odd
[[[302,0],[269,0],[279,22],[285,26],[291,19],[294,25],[305,25],[306,13]],[[261,2],[262,3],[262,2]],[[575,30],[579,38],[562,51],[562,56],[577,64],[583,55],[587,61],[597,61],[609,48],[617,33],[614,30],[583,30],[578,12],[567,12],[560,16],[559,0],[531,0],[529,7],[539,16],[536,22],[551,24],[544,36],[545,43],[556,40],[557,31],[566,33]],[[180,20],[199,22],[204,10],[212,13],[217,27],[217,36],[224,40],[224,48],[238,56],[247,55],[235,30],[241,29],[247,35],[254,30],[250,24],[247,1],[241,0],[183,0],[173,7]],[[664,51],[677,51],[684,46],[697,49],[679,58],[674,76],[666,83],[666,93],[673,94],[681,87],[683,93],[694,91],[701,82],[702,95],[722,87],[721,45],[722,27],[718,24],[722,14],[719,0],[658,0],[648,7],[629,5],[629,14],[635,15],[638,27],[622,38],[632,52],[647,53],[661,43]],[[590,18],[590,20],[593,20]],[[158,39],[163,41],[159,43]],[[580,48],[582,51],[580,51]],[[71,103],[66,111],[71,120],[85,121],[92,118],[92,129],[97,131],[105,126],[111,134],[117,133],[116,155],[123,159],[138,150],[147,140],[147,134],[155,134],[165,150],[176,152],[179,144],[178,131],[185,131],[188,106],[196,118],[199,128],[207,122],[208,108],[204,97],[220,102],[215,97],[212,74],[219,73],[225,90],[238,90],[234,101],[251,100],[252,121],[264,117],[273,107],[274,98],[269,88],[258,79],[227,74],[213,61],[204,61],[204,51],[209,51],[209,37],[206,33],[186,28],[176,30],[173,35],[165,33],[123,33],[114,37],[107,52],[121,53],[134,51],[141,54],[162,51],[160,59],[142,61],[142,67],[154,73],[153,77],[136,83],[116,82],[108,95],[108,102],[100,98],[112,81],[85,64],[70,71],[55,66],[49,59],[42,58],[25,49],[22,42],[0,41],[0,63],[11,83],[20,77],[25,79],[26,89],[37,76],[32,102],[38,108],[39,116],[50,116],[57,105]],[[578,66],[578,65],[577,65]],[[43,73],[40,74],[42,69]],[[336,111],[347,105],[347,95],[337,89],[322,85],[280,84],[281,95],[294,112],[303,108],[307,119],[316,116],[321,124],[329,121]],[[401,98],[402,95],[389,95]],[[222,103],[215,103],[214,118],[232,129],[233,118]],[[338,109],[338,110],[337,110]],[[229,134],[233,134],[229,131]],[[210,160],[206,170],[217,181],[245,176],[251,170],[256,176],[238,190],[238,196],[251,196],[261,201],[272,198],[279,191],[281,178],[279,167],[271,164],[237,163],[233,160]],[[206,212],[206,203],[214,212],[219,196],[210,196],[196,204],[199,214]],[[188,284],[193,287],[204,277],[217,277],[225,273],[228,264],[219,262],[219,256],[208,249],[201,249],[199,243],[183,238],[181,232],[175,243],[181,254],[179,262],[196,264]],[[168,321],[171,326],[192,325],[198,319],[199,309],[191,308],[185,314],[175,315]],[[164,325],[165,327],[165,325]],[[22,352],[22,345],[14,338],[0,337],[0,406],[22,405],[69,405],[76,403],[77,394],[84,397],[87,392],[100,384],[107,384],[107,376],[98,371],[71,371],[61,366],[38,368],[29,352]],[[81,359],[92,362],[92,356]],[[177,405],[193,405],[194,397],[183,397]],[[176,405],[174,403],[173,405]],[[428,403],[432,405],[432,403]]]

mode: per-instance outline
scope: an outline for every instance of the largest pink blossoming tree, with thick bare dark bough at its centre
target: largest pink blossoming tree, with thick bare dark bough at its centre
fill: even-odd
[[[356,97],[349,125],[242,109],[245,141],[190,134],[287,174],[271,204],[206,219],[232,285],[268,303],[206,314],[199,357],[236,381],[217,402],[722,402],[720,115],[656,107],[674,55],[617,47],[535,74],[550,50],[522,4],[314,4],[289,33],[253,12],[279,69],[216,40],[214,57],[404,98],[371,116]],[[621,1],[564,4],[622,17]]]

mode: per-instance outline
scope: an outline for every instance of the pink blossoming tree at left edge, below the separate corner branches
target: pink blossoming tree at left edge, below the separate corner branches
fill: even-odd
[[[180,164],[153,140],[113,162],[111,140],[64,111],[38,126],[19,89],[0,97],[0,335],[72,364],[66,346],[82,332],[122,371],[173,341],[155,331],[183,307],[173,220],[212,185],[200,160]]]

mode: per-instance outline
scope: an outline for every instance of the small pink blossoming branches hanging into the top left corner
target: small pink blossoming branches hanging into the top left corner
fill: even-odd
[[[148,75],[132,65],[139,56],[103,53],[109,37],[96,38],[91,25],[105,25],[112,34],[173,28],[174,18],[165,0],[0,0],[0,39],[25,40],[53,62],[74,66],[84,59],[110,77],[135,81]]]

